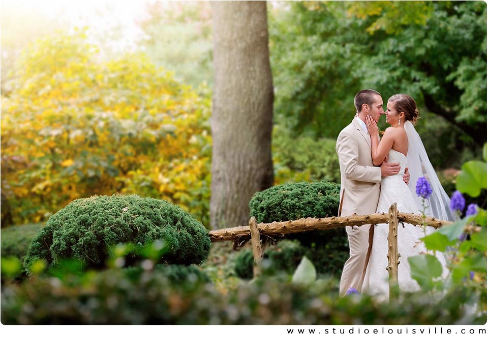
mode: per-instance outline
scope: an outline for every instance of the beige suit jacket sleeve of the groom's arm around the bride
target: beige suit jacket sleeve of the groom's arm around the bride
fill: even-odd
[[[344,173],[348,180],[379,183],[381,182],[381,168],[378,166],[359,165],[359,151],[353,137],[341,132],[337,138],[335,151],[339,156],[339,163],[344,166]]]

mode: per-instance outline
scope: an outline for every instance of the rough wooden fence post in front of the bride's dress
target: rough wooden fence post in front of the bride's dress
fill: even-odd
[[[393,295],[392,288],[398,285],[398,265],[400,264],[400,253],[398,252],[398,209],[393,203],[388,210],[388,281],[389,299]]]

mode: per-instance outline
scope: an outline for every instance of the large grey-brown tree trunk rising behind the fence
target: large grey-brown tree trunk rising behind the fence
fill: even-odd
[[[265,2],[212,2],[212,229],[248,224],[249,201],[273,184],[273,83]]]

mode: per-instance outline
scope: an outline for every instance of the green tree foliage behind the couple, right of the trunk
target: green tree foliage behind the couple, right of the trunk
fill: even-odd
[[[440,117],[425,114],[418,131],[442,150],[441,167],[486,142],[484,2],[294,2],[270,13],[276,123],[335,138],[356,92],[374,88]]]

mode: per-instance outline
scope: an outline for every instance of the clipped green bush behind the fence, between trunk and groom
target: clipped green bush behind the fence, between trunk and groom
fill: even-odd
[[[251,216],[264,223],[302,217],[323,218],[337,215],[339,196],[339,184],[327,181],[288,183],[255,193],[249,207]],[[300,253],[314,263],[318,273],[340,276],[349,256],[347,234],[343,228],[287,235],[287,238],[300,241],[303,247]],[[283,262],[284,266],[287,264],[290,262]],[[240,269],[239,275],[249,274],[249,265]],[[246,269],[248,272],[244,271]]]

